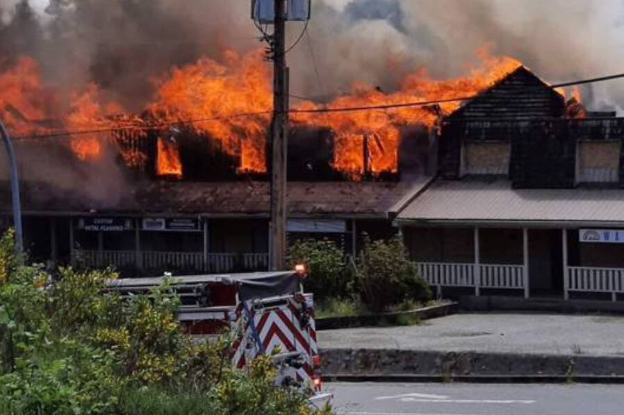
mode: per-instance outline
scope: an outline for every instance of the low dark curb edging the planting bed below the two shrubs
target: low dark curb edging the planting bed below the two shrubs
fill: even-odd
[[[398,325],[402,318],[425,321],[438,317],[455,314],[459,310],[459,303],[433,305],[407,312],[390,312],[381,314],[364,314],[362,316],[322,317],[315,319],[316,330],[337,330],[341,328],[375,327],[383,325]]]

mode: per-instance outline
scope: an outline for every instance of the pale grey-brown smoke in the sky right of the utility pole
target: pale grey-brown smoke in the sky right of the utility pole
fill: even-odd
[[[313,13],[309,32],[329,92],[354,79],[392,88],[418,67],[457,76],[484,44],[552,83],[624,71],[621,0],[325,0]],[[295,73],[309,90],[315,75],[305,49]],[[624,81],[582,92],[593,106],[618,105]]]

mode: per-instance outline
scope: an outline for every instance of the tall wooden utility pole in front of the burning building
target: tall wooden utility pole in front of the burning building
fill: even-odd
[[[286,269],[286,156],[288,84],[286,76],[286,5],[275,1],[273,32],[273,122],[271,134],[270,269]]]

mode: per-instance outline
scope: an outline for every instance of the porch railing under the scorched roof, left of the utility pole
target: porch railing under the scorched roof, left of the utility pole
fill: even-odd
[[[145,270],[225,273],[232,271],[265,271],[268,269],[267,253],[208,253],[161,252],[161,251],[96,251],[76,249],[72,262],[93,268],[114,266],[117,269],[138,268]]]

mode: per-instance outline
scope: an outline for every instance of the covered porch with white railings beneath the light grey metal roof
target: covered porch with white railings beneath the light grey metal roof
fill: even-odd
[[[470,260],[452,262],[452,258],[445,261],[427,260],[426,256],[422,256],[422,251],[419,251],[422,244],[430,246],[436,244],[434,239],[427,238],[427,233],[433,229],[405,229],[404,238],[418,273],[429,282],[429,285],[435,287],[438,296],[442,296],[445,289],[470,289],[475,296],[482,294],[515,294],[524,298],[563,296],[566,300],[606,299],[608,296],[612,301],[616,301],[619,298],[618,294],[624,294],[624,264],[618,264],[607,258],[612,255],[608,251],[621,251],[620,255],[624,257],[624,244],[605,249],[605,246],[598,246],[605,244],[604,242],[597,242],[597,246],[594,247],[587,246],[591,242],[578,239],[586,232],[603,232],[603,234],[619,232],[624,243],[624,230],[438,228],[441,235],[461,235],[470,231],[473,234],[470,248],[474,251]],[[495,233],[499,236],[494,237]],[[505,255],[505,251],[509,253],[513,247],[509,245],[509,240],[504,245],[502,239],[514,233],[521,235],[522,262],[507,263],[509,256]],[[555,235],[559,236],[558,241],[553,239]],[[415,242],[415,239],[423,237],[422,242]],[[498,255],[493,255],[493,242],[497,239],[501,245],[495,248]],[[511,239],[512,245],[513,240]],[[444,243],[448,245],[448,241]],[[465,251],[463,255],[466,255]],[[520,253],[516,256],[520,257]]]

